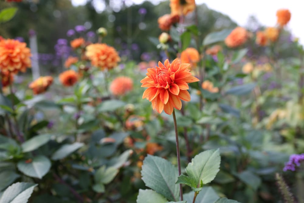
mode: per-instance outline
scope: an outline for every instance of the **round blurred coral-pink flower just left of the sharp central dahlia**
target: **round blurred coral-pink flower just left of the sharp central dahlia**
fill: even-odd
[[[121,76],[115,78],[110,85],[113,95],[124,95],[133,89],[133,80],[129,77]]]

